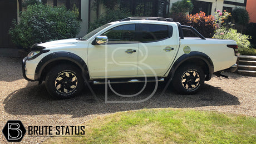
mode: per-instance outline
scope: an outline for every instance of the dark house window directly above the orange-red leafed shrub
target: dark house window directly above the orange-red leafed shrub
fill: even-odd
[[[211,2],[203,2],[203,1],[192,1],[193,3],[193,11],[192,14],[199,13],[200,11],[205,12],[206,16],[211,15],[211,6],[213,3]]]

